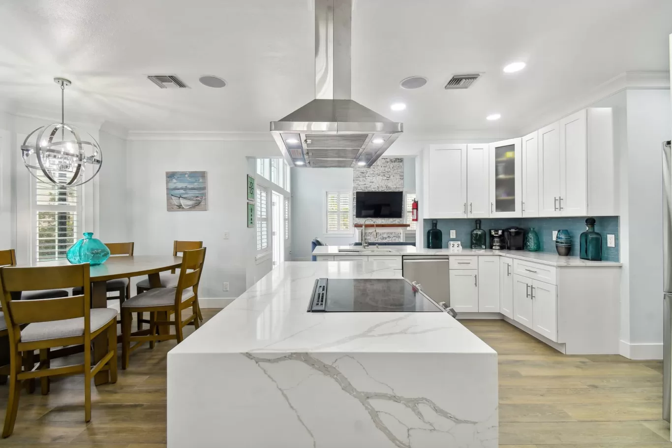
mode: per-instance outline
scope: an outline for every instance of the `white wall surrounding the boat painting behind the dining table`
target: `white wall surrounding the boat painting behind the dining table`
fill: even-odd
[[[238,297],[270,266],[255,263],[255,229],[247,228],[247,174],[254,161],[278,153],[272,141],[129,141],[126,163],[128,229],[135,253],[171,254],[173,241],[208,248],[200,297]],[[167,171],[208,172],[208,211],[166,210]],[[224,231],[230,232],[224,239]],[[222,291],[222,283],[229,291]],[[253,283],[253,282],[251,282]]]

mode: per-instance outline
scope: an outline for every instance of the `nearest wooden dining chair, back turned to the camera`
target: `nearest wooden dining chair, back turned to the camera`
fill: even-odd
[[[91,309],[89,264],[0,269],[3,317],[9,334],[9,398],[3,437],[11,435],[19,406],[22,381],[40,378],[42,394],[48,377],[84,374],[84,420],[91,420],[91,378],[101,370],[117,380],[117,312],[112,308]],[[81,287],[82,294],[58,299],[17,300],[21,291]],[[24,328],[22,328],[25,325]],[[108,352],[91,366],[91,340],[108,332]],[[83,344],[84,363],[50,367],[49,349]],[[40,350],[40,363],[22,371],[22,352]]]

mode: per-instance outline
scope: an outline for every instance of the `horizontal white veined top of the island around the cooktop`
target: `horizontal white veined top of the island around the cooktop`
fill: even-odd
[[[448,313],[308,313],[316,278],[401,278],[385,262],[284,262],[171,350],[490,353]],[[226,375],[226,373],[222,373]]]

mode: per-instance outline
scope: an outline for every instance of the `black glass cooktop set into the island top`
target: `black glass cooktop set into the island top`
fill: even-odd
[[[403,278],[318,278],[308,312],[432,312],[433,301]]]

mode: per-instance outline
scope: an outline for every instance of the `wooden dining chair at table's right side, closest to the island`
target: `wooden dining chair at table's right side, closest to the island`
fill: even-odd
[[[198,283],[201,270],[206,258],[206,248],[185,250],[182,253],[182,264],[179,268],[179,277],[175,288],[154,288],[131,297],[122,305],[122,369],[128,367],[130,352],[142,342],[157,342],[161,340],[177,339],[182,342],[182,328],[194,323],[198,328]],[[182,310],[192,307],[192,315],[182,320]],[[131,334],[131,313],[149,312],[149,334],[134,336]],[[157,319],[157,313],[167,316],[166,320]],[[175,313],[173,320],[171,313]],[[175,334],[157,334],[157,327],[174,325]],[[131,342],[136,344],[131,346]]]

